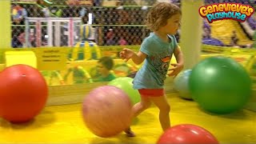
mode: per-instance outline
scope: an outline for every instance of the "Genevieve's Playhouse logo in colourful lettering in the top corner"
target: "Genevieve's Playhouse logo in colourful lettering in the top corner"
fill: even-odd
[[[199,8],[199,14],[209,23],[223,19],[234,19],[245,22],[254,14],[254,7],[241,3],[214,3]]]

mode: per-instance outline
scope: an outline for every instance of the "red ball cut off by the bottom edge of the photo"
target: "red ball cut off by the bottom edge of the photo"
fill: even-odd
[[[218,144],[218,140],[208,130],[200,126],[183,124],[170,127],[158,139],[158,144]]]

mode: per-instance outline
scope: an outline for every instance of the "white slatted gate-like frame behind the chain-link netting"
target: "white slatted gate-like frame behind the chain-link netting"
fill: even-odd
[[[62,42],[67,42],[64,46],[74,46],[79,40],[81,24],[82,18],[26,18],[26,47],[32,46],[30,35],[35,36],[36,47],[63,46]]]

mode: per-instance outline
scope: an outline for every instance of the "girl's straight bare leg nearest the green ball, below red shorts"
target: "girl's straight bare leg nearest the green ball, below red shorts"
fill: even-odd
[[[170,105],[167,102],[166,96],[150,97],[150,100],[154,102],[155,106],[158,106],[159,121],[162,126],[162,130],[165,131],[170,128]]]

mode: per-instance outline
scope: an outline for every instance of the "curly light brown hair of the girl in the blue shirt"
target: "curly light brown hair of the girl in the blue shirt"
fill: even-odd
[[[166,26],[167,20],[175,14],[182,14],[180,8],[172,3],[158,2],[148,12],[146,16],[146,26],[155,31],[161,26]]]

